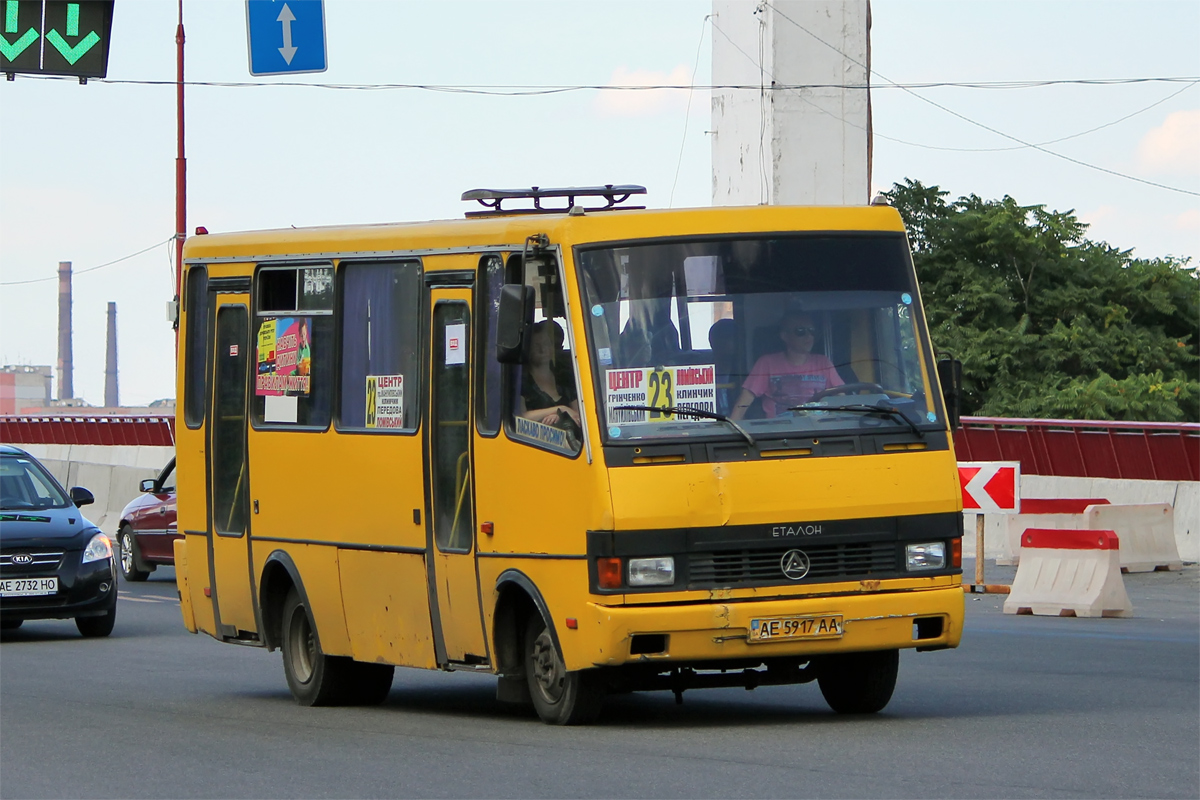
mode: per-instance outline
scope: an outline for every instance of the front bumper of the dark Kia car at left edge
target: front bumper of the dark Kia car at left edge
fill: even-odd
[[[71,555],[74,557],[73,563]],[[113,559],[80,564],[79,553],[68,554],[53,572],[5,572],[6,578],[58,576],[59,591],[37,597],[5,597],[0,619],[74,619],[101,616],[116,607],[116,565]]]

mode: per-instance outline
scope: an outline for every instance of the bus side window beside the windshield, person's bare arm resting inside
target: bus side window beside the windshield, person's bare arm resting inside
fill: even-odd
[[[510,260],[511,265],[511,260]],[[558,265],[553,257],[530,259],[524,284],[534,288],[534,325],[524,363],[506,367],[510,439],[566,456],[583,441],[575,361],[566,349],[566,315]]]

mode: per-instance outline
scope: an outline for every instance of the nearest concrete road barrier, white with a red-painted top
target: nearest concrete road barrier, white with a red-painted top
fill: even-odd
[[[1026,530],[1004,613],[1133,616],[1120,547],[1111,530]]]

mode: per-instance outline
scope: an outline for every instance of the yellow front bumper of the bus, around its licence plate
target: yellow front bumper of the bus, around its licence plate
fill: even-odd
[[[576,631],[560,631],[568,669],[613,667],[625,663],[712,662],[804,657],[829,652],[892,650],[900,648],[941,649],[958,646],[962,637],[964,597],[959,585],[868,595],[793,597],[776,600],[725,600],[721,602],[671,606],[601,606],[588,603],[589,619],[578,620],[578,632],[595,646],[588,663],[572,660],[570,639]],[[840,614],[844,632],[839,638],[749,642],[754,619],[821,616]],[[920,620],[920,622],[918,622]],[[940,620],[940,625],[925,620]],[[590,628],[590,631],[588,631]],[[920,628],[918,631],[918,628]],[[936,636],[929,636],[937,630]],[[590,633],[590,636],[587,636]],[[661,652],[634,655],[634,637],[665,637]],[[920,638],[918,638],[918,636]],[[581,642],[582,644],[582,642]]]

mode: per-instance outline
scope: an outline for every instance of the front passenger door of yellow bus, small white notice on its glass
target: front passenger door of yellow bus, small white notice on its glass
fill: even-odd
[[[430,289],[426,519],[430,606],[438,662],[487,662],[475,564],[470,440],[470,289]]]

